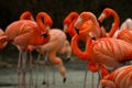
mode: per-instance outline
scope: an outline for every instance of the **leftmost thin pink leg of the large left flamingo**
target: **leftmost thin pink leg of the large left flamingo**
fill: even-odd
[[[21,61],[22,61],[22,52],[20,51],[19,61],[18,61],[18,88],[20,88]]]

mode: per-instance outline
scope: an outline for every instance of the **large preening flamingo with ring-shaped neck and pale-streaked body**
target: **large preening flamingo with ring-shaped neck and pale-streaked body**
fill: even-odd
[[[102,37],[92,41],[88,35],[92,31],[92,25],[85,25],[79,30],[79,35],[75,35],[72,40],[73,53],[81,59],[94,63],[105,64],[107,67],[119,67],[124,61],[131,61],[131,44],[121,40]],[[75,25],[76,29],[78,26]],[[86,38],[86,50],[81,52],[78,47],[79,40]]]

